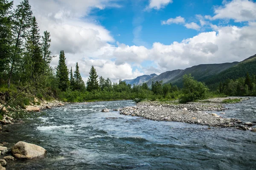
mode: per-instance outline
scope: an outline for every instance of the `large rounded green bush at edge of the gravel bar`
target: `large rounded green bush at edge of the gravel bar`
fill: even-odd
[[[183,95],[180,97],[180,102],[193,102],[198,99],[204,99],[207,96],[209,89],[202,82],[198,82],[190,74],[183,76]]]

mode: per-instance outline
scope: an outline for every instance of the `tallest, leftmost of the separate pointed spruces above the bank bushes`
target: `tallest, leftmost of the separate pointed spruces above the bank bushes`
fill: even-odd
[[[58,66],[56,68],[56,76],[58,78],[58,87],[59,89],[61,89],[61,91],[66,91],[70,84],[70,81],[68,78],[69,71],[67,69],[67,65],[65,61],[66,61],[65,54],[64,54],[64,51],[62,50],[60,52]]]

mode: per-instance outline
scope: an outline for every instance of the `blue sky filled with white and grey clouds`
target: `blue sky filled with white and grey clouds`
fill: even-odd
[[[14,0],[15,6],[21,0]],[[29,0],[51,51],[87,81],[134,79],[256,54],[256,0]]]

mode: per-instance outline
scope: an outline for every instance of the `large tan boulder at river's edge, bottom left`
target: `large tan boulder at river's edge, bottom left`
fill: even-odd
[[[46,153],[43,147],[26,142],[17,142],[12,147],[12,154],[18,159],[44,158]]]

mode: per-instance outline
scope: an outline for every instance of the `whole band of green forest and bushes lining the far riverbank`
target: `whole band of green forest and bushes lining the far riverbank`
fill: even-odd
[[[218,89],[210,91],[204,82],[196,81],[191,75],[184,75],[183,88],[172,83],[152,82],[130,85],[121,79],[118,83],[99,77],[91,66],[90,77],[84,83],[79,65],[67,68],[64,50],[61,49],[56,68],[50,63],[51,35],[45,30],[39,33],[37,20],[33,16],[28,0],[16,8],[13,2],[0,0],[0,98],[3,107],[24,108],[34,99],[63,102],[84,102],[95,100],[133,99],[191,102],[216,96],[256,96],[255,75],[225,79]]]

